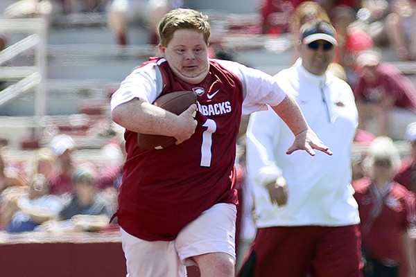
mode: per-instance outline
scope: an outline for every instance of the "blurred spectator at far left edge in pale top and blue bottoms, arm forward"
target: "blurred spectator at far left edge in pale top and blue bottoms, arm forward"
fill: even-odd
[[[34,175],[28,190],[8,190],[1,201],[1,223],[8,233],[33,231],[53,219],[62,208],[58,196],[49,194],[44,175]]]

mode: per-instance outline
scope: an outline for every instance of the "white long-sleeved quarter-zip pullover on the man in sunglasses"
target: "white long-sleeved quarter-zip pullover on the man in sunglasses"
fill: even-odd
[[[349,85],[327,72],[312,75],[298,60],[277,75],[313,131],[333,152],[286,154],[294,136],[272,109],[252,114],[247,132],[248,181],[252,184],[257,226],[347,226],[359,222],[350,184],[350,150],[358,113]],[[288,204],[272,205],[265,186],[283,176]]]

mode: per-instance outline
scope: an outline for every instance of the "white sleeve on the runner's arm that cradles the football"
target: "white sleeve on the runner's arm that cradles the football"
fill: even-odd
[[[134,98],[141,98],[153,103],[160,93],[157,89],[157,70],[155,64],[146,64],[135,69],[121,82],[111,97],[111,110],[118,105],[129,102]]]

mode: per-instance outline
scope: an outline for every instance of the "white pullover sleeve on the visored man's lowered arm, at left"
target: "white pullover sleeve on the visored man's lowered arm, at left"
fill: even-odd
[[[282,175],[275,157],[281,129],[275,111],[257,111],[250,116],[246,136],[246,164],[254,184],[264,187]]]

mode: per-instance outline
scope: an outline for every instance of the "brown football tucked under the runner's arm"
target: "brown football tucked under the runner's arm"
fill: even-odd
[[[193,91],[175,91],[160,96],[153,105],[171,111],[173,114],[182,114],[190,105],[196,104],[196,93]],[[175,144],[173,136],[156,134],[137,134],[137,145],[144,150],[160,150]]]

